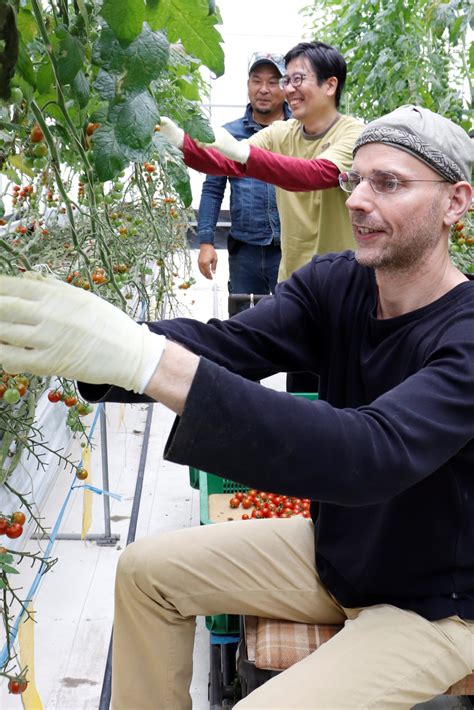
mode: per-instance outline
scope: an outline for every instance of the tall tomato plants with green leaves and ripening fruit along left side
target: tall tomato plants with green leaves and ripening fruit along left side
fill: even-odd
[[[193,137],[212,139],[199,69],[224,69],[214,1],[6,0],[2,13],[0,273],[42,271],[151,319],[173,303],[173,273],[191,285],[189,178],[159,128],[164,114]],[[0,485],[23,505],[28,497],[11,477],[23,453],[40,465],[49,452],[35,421],[43,393],[64,408],[75,436],[87,436],[91,407],[74,383],[0,370]],[[0,534],[21,535],[22,523],[4,518]],[[9,583],[13,557],[5,555],[8,636],[9,600],[20,600]],[[18,683],[13,661],[11,649],[0,675]]]

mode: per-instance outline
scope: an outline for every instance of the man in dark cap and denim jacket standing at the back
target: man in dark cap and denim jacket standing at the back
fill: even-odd
[[[225,124],[242,140],[277,120],[291,116],[278,83],[284,74],[283,56],[256,52],[249,64],[249,104],[245,114]],[[253,178],[229,178],[231,228],[228,235],[229,292],[272,293],[280,264],[280,220],[272,185]],[[208,176],[199,205],[199,270],[212,279],[217,267],[214,235],[226,177]]]

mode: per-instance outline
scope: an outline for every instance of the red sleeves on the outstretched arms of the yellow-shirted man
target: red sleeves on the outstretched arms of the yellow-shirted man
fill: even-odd
[[[339,168],[324,158],[292,158],[251,145],[249,159],[242,165],[213,148],[199,148],[187,134],[184,135],[183,155],[189,168],[207,175],[253,177],[292,192],[325,190],[339,185]]]

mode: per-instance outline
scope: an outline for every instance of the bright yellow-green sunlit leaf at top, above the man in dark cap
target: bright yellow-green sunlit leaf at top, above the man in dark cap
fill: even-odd
[[[208,0],[160,0],[156,8],[147,6],[146,20],[152,29],[166,28],[171,42],[181,40],[216,76],[224,73],[222,37],[215,29],[219,18],[209,14]]]

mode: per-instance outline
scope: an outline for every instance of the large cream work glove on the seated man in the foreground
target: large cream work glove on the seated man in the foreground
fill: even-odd
[[[0,275],[0,363],[142,393],[166,338],[102,298],[36,273]]]

